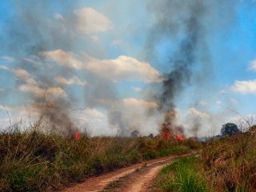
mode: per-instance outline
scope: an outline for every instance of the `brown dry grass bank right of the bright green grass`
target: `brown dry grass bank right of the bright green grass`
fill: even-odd
[[[256,136],[253,132],[206,142],[201,162],[218,191],[256,191]]]

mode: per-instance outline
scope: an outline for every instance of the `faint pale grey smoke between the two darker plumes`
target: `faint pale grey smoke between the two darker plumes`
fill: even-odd
[[[99,107],[106,110],[110,127],[117,130],[118,136],[130,136],[133,130],[148,134],[146,130],[151,115],[158,108],[154,102],[146,102],[136,98],[120,98],[116,83],[95,74],[90,74],[91,85],[85,89],[86,106]],[[149,122],[149,123],[147,123]]]

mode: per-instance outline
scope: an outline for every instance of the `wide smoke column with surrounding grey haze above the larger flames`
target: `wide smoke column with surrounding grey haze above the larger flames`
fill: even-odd
[[[233,17],[233,14],[230,14],[226,18],[221,18],[218,9],[230,11],[233,7],[234,5],[227,1],[223,3],[202,0],[150,2],[150,10],[154,12],[155,22],[146,44],[146,52],[150,60],[158,62],[158,65],[164,66],[167,71],[161,88],[154,97],[160,106],[160,111],[165,114],[165,122],[175,126],[176,101],[186,99],[178,98],[183,90],[193,86],[194,91],[201,92],[203,96],[206,96],[207,92],[210,93],[209,79],[211,78],[211,81],[213,79],[207,38],[210,33],[214,33],[218,27]],[[166,55],[164,61],[159,59],[159,50],[157,50],[163,42],[170,44],[161,50],[161,54]],[[193,104],[198,102],[198,94],[196,96],[190,94],[188,97],[194,99]],[[201,119],[194,118],[190,129],[196,134],[201,126]]]

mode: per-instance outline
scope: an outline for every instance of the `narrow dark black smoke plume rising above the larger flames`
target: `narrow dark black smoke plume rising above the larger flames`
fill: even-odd
[[[150,36],[151,51],[163,37],[167,41],[182,34],[178,50],[174,54],[170,52],[170,72],[164,75],[158,94],[162,112],[170,113],[175,112],[174,99],[190,83],[193,67],[197,64],[198,44],[203,42],[200,21],[206,8],[203,1],[160,1],[155,6],[158,20]],[[166,121],[169,120],[167,117]]]

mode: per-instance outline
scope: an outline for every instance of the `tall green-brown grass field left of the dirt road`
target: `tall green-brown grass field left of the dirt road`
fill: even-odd
[[[160,138],[63,137],[39,130],[16,127],[0,134],[1,191],[59,190],[92,175],[200,146]]]

